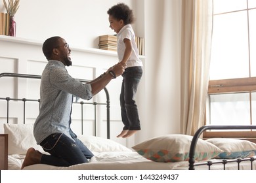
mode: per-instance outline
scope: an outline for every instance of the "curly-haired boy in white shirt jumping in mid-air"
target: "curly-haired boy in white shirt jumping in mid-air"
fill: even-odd
[[[123,131],[117,137],[130,137],[140,130],[140,120],[135,94],[142,76],[142,61],[135,42],[133,11],[125,4],[118,3],[108,10],[110,28],[117,33],[117,56],[125,65],[121,85],[120,105]]]

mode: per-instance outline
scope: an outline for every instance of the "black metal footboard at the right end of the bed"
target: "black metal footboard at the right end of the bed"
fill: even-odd
[[[198,162],[195,163],[194,155],[196,150],[196,143],[202,135],[203,131],[209,129],[256,129],[256,125],[204,125],[198,129],[192,139],[191,146],[190,146],[190,153],[189,153],[189,170],[194,170],[195,166],[200,165],[208,165],[209,170],[211,169],[211,165],[213,164],[223,164],[223,169],[226,168],[226,163],[229,162],[237,162],[238,163],[238,170],[240,169],[240,163],[242,161],[251,161],[251,170],[253,169],[253,161],[256,158],[237,158],[237,159],[224,159],[219,161],[207,161],[207,162]]]

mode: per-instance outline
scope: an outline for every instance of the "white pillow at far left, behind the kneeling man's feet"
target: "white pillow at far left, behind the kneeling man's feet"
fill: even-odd
[[[4,131],[8,134],[8,154],[26,154],[28,148],[44,152],[37,145],[33,137],[33,124],[4,124]]]

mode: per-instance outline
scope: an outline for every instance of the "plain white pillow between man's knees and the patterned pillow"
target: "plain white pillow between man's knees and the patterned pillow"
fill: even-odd
[[[77,135],[77,139],[83,142],[83,144],[85,144],[85,146],[87,146],[87,148],[92,152],[132,151],[122,144],[102,137]]]

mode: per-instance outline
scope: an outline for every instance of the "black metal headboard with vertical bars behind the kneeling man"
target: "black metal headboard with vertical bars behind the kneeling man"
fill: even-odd
[[[34,79],[41,79],[40,75],[26,75],[26,74],[18,74],[18,73],[0,73],[0,78],[2,77],[16,77],[16,78],[34,78]],[[83,80],[83,79],[77,79],[80,82],[89,82],[90,80]],[[104,88],[104,92],[106,94],[106,103],[85,103],[83,101],[81,102],[73,102],[76,104],[81,105],[81,134],[83,134],[83,105],[84,104],[89,104],[89,105],[94,105],[95,108],[95,116],[94,116],[94,125],[95,125],[95,130],[94,130],[94,135],[96,136],[96,105],[106,105],[106,126],[107,126],[107,139],[110,139],[110,95],[108,93],[108,90],[106,87]],[[10,97],[5,97],[1,98],[0,100],[6,100],[7,101],[7,124],[9,123],[9,101],[23,101],[23,120],[24,124],[26,121],[26,102],[27,101],[32,101],[32,102],[39,102],[39,107],[40,107],[40,99],[11,99]]]

